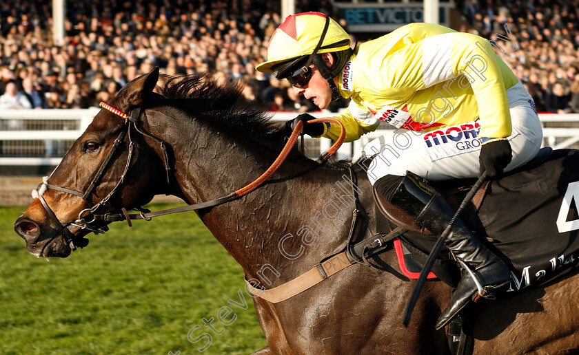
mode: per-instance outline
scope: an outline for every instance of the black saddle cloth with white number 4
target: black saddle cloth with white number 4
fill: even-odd
[[[455,208],[467,194],[457,189],[465,186],[465,181],[434,185]],[[509,265],[514,281],[506,290],[516,292],[545,283],[577,265],[576,200],[579,151],[561,149],[553,151],[542,164],[532,164],[489,182],[478,211],[471,204],[461,218],[479,238],[486,238],[489,248]],[[437,238],[413,232],[400,237],[419,262],[425,261]],[[456,286],[460,275],[454,263],[447,261],[447,251],[443,250],[433,270],[440,279]]]

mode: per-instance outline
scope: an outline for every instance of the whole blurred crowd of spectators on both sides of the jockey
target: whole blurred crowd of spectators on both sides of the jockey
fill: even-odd
[[[276,1],[77,0],[66,6],[66,35],[57,44],[50,1],[0,3],[0,108],[98,105],[156,65],[170,75],[209,71],[220,80],[243,80],[243,95],[270,111],[316,109],[286,80],[254,69],[282,21]],[[459,7],[468,24],[460,30],[500,43],[500,55],[538,111],[579,112],[579,0],[466,0]],[[309,10],[338,14],[327,0],[296,2],[296,11]],[[497,37],[509,32],[516,48]],[[341,100],[330,109],[345,105]]]

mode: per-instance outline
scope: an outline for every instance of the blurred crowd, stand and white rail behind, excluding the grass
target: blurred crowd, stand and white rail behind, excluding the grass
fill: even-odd
[[[2,1],[0,175],[52,171],[98,103],[153,66],[170,75],[212,72],[220,80],[243,80],[243,95],[272,111],[275,120],[316,111],[288,90],[286,80],[254,69],[266,60],[270,36],[288,9],[329,14],[352,34],[353,43],[418,21],[493,39],[496,52],[545,113],[545,127],[574,128],[578,5],[578,0]],[[340,100],[328,110],[346,105]],[[577,133],[547,129],[545,144],[574,147]],[[341,155],[355,155],[374,136],[347,144]],[[316,156],[329,142],[308,144]]]

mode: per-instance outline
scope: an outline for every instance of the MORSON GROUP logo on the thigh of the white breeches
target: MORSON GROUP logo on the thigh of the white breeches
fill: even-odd
[[[478,122],[466,122],[425,133],[423,136],[431,160],[477,151],[482,144]]]

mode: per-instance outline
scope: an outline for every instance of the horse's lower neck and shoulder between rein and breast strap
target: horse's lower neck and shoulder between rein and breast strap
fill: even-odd
[[[203,221],[248,277],[282,283],[345,246],[355,205],[342,175],[320,170],[267,184]]]

